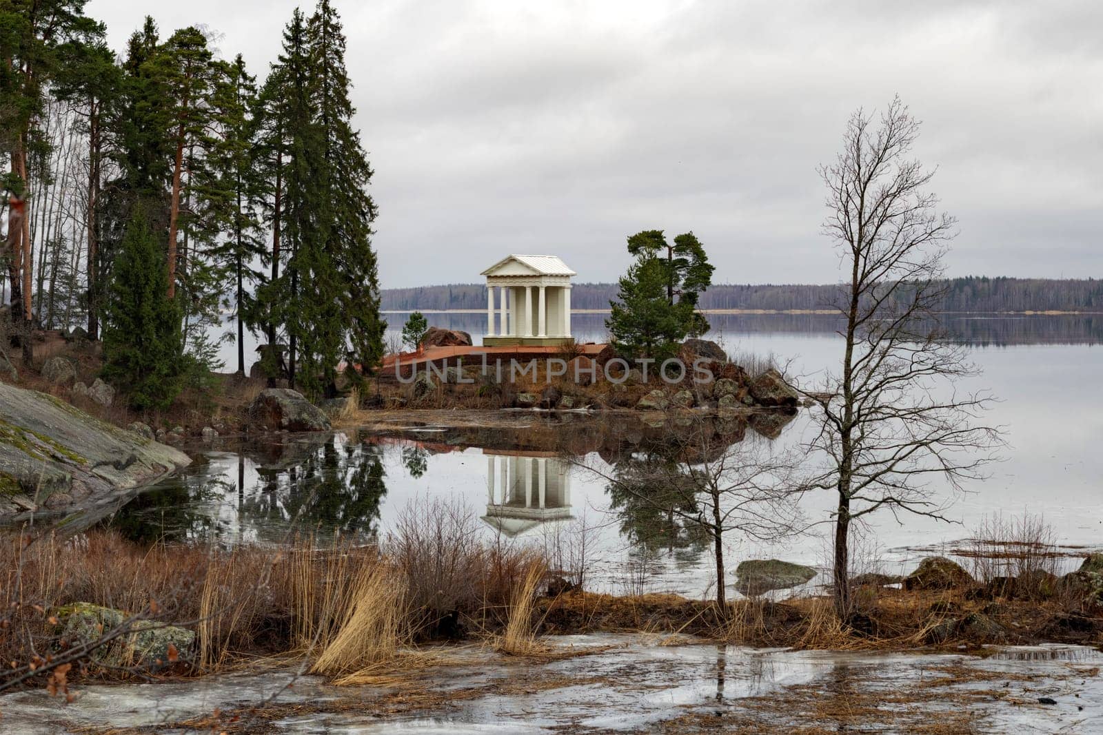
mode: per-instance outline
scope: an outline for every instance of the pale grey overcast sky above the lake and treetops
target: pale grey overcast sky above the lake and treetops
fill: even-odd
[[[267,72],[295,2],[92,0]],[[335,0],[375,176],[382,285],[510,252],[613,280],[693,230],[725,283],[834,282],[823,184],[848,115],[899,93],[960,220],[953,274],[1103,277],[1103,3]],[[304,9],[308,6],[304,6]]]

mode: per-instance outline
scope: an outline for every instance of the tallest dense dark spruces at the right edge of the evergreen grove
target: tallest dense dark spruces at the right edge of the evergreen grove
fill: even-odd
[[[376,209],[366,191],[372,169],[352,127],[344,50],[328,0],[309,21],[296,11],[269,77],[278,91],[266,84],[261,95],[275,118],[260,129],[276,136],[287,261],[260,289],[260,310],[285,326],[292,385],[314,396],[335,393],[341,361],[371,370],[386,327],[371,239]]]

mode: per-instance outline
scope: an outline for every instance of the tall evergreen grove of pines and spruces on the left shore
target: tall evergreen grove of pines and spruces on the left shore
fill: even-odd
[[[286,345],[290,370],[266,366],[270,380],[315,397],[342,366],[371,369],[373,172],[330,0],[295,11],[259,84],[200,26],[164,36],[146,18],[116,56],[84,4],[0,0],[0,216],[10,201],[28,213],[6,300],[101,336],[136,408],[171,402],[212,334],[237,342],[242,372],[246,329]]]

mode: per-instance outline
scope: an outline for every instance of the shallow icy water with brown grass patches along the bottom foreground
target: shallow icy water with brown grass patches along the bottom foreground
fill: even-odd
[[[36,690],[0,698],[0,722],[4,732],[29,735],[87,727],[193,732],[179,723],[221,710],[250,724],[253,715],[235,709],[268,700],[271,709],[259,711],[257,726],[346,735],[697,732],[748,717],[782,731],[815,717],[826,728],[866,723],[908,732],[917,717],[943,716],[967,721],[976,732],[1058,733],[1091,732],[1086,723],[1103,718],[1103,655],[1082,647],[1009,647],[978,658],[748,649],[640,636],[553,640],[611,648],[552,662],[464,650],[456,666],[390,690],[338,688],[287,671],[77,688],[68,705]],[[403,705],[404,698],[416,702],[426,691],[436,695],[430,704]],[[836,712],[831,702],[844,706]]]

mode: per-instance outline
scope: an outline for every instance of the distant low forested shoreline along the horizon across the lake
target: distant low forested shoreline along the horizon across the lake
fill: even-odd
[[[1103,280],[968,277],[950,279],[941,311],[946,312],[1103,312]],[[451,283],[384,289],[386,311],[486,309],[482,283]],[[716,284],[700,299],[702,309],[815,311],[831,309],[835,284]],[[576,283],[575,309],[609,309],[615,283]]]

